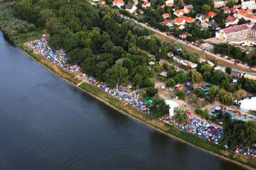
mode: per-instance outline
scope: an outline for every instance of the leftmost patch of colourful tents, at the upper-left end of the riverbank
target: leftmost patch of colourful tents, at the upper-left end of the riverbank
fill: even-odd
[[[35,40],[29,42],[29,44],[36,52],[46,57],[53,63],[56,63],[59,67],[63,68],[66,71],[79,71],[80,67],[77,65],[68,65],[67,59],[68,56],[63,50],[52,50],[47,46],[47,38],[43,36],[40,40]]]

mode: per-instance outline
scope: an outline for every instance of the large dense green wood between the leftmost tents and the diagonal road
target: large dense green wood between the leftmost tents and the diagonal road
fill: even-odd
[[[117,9],[92,6],[84,1],[16,1],[22,18],[49,34],[53,49],[64,49],[69,62],[82,71],[117,87],[133,82],[152,87],[154,71],[145,65],[149,57],[139,48],[159,53],[160,40],[146,38],[148,30],[122,19]]]

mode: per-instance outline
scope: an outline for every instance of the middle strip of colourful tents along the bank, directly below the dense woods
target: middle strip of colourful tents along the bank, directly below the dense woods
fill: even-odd
[[[147,105],[147,103],[141,99],[139,93],[137,93],[135,91],[133,91],[133,92],[126,91],[122,87],[118,87],[117,90],[114,90],[114,89],[106,86],[102,82],[97,82],[96,79],[94,79],[92,76],[86,76],[86,80],[88,80],[89,82],[94,84],[94,86],[101,88],[105,92],[108,92],[110,95],[117,97],[119,100],[121,100],[127,104],[133,105],[133,107],[135,107],[145,113],[149,113],[149,105]]]

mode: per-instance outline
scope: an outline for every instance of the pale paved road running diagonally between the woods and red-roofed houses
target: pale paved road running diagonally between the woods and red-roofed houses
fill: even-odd
[[[158,31],[158,30],[155,29],[155,28],[148,27],[148,25],[146,25],[146,24],[144,24],[144,23],[137,22],[137,20],[135,20],[135,19],[133,19],[133,18],[129,18],[128,16],[125,16],[125,15],[122,15],[122,14],[120,14],[120,15],[121,15],[122,18],[129,19],[129,20],[133,20],[135,23],[141,25],[142,27],[146,27],[146,28],[150,29],[151,31],[154,31],[154,32],[159,33],[159,34],[162,35],[162,36],[165,36],[165,37],[168,37],[168,38],[170,38],[170,39],[172,39],[172,40],[174,40],[174,41],[180,42],[181,44],[183,44],[183,45],[185,45],[185,46],[190,46],[191,48],[194,48],[194,49],[199,50],[199,51],[202,50],[201,48],[199,48],[199,47],[197,47],[197,46],[194,46],[194,45],[192,45],[191,43],[187,44],[187,42],[185,42],[185,41],[183,41],[183,40],[176,39],[175,37],[172,37],[172,36],[168,36],[165,32]],[[205,51],[204,53],[208,54],[209,56],[215,57],[215,58],[220,59],[220,60],[225,61],[225,62],[229,62],[229,63],[231,63],[232,65],[234,65],[234,62],[233,62],[233,61],[230,61],[229,59],[222,58],[222,57],[220,57],[220,56],[217,56],[216,54],[213,54],[213,53],[210,53],[210,52],[207,52],[207,51]],[[254,71],[254,73],[246,72],[246,71],[241,71],[241,70],[236,70],[236,69],[233,69],[233,70],[241,71],[242,73],[248,73],[248,74],[254,74],[254,75],[256,75],[256,73],[255,73],[255,72],[256,72],[256,69],[254,69],[254,68],[250,69],[249,66],[245,66],[245,65],[242,65],[242,64],[238,64],[237,66],[243,67],[243,68],[245,68],[245,69],[247,69],[247,70]]]

